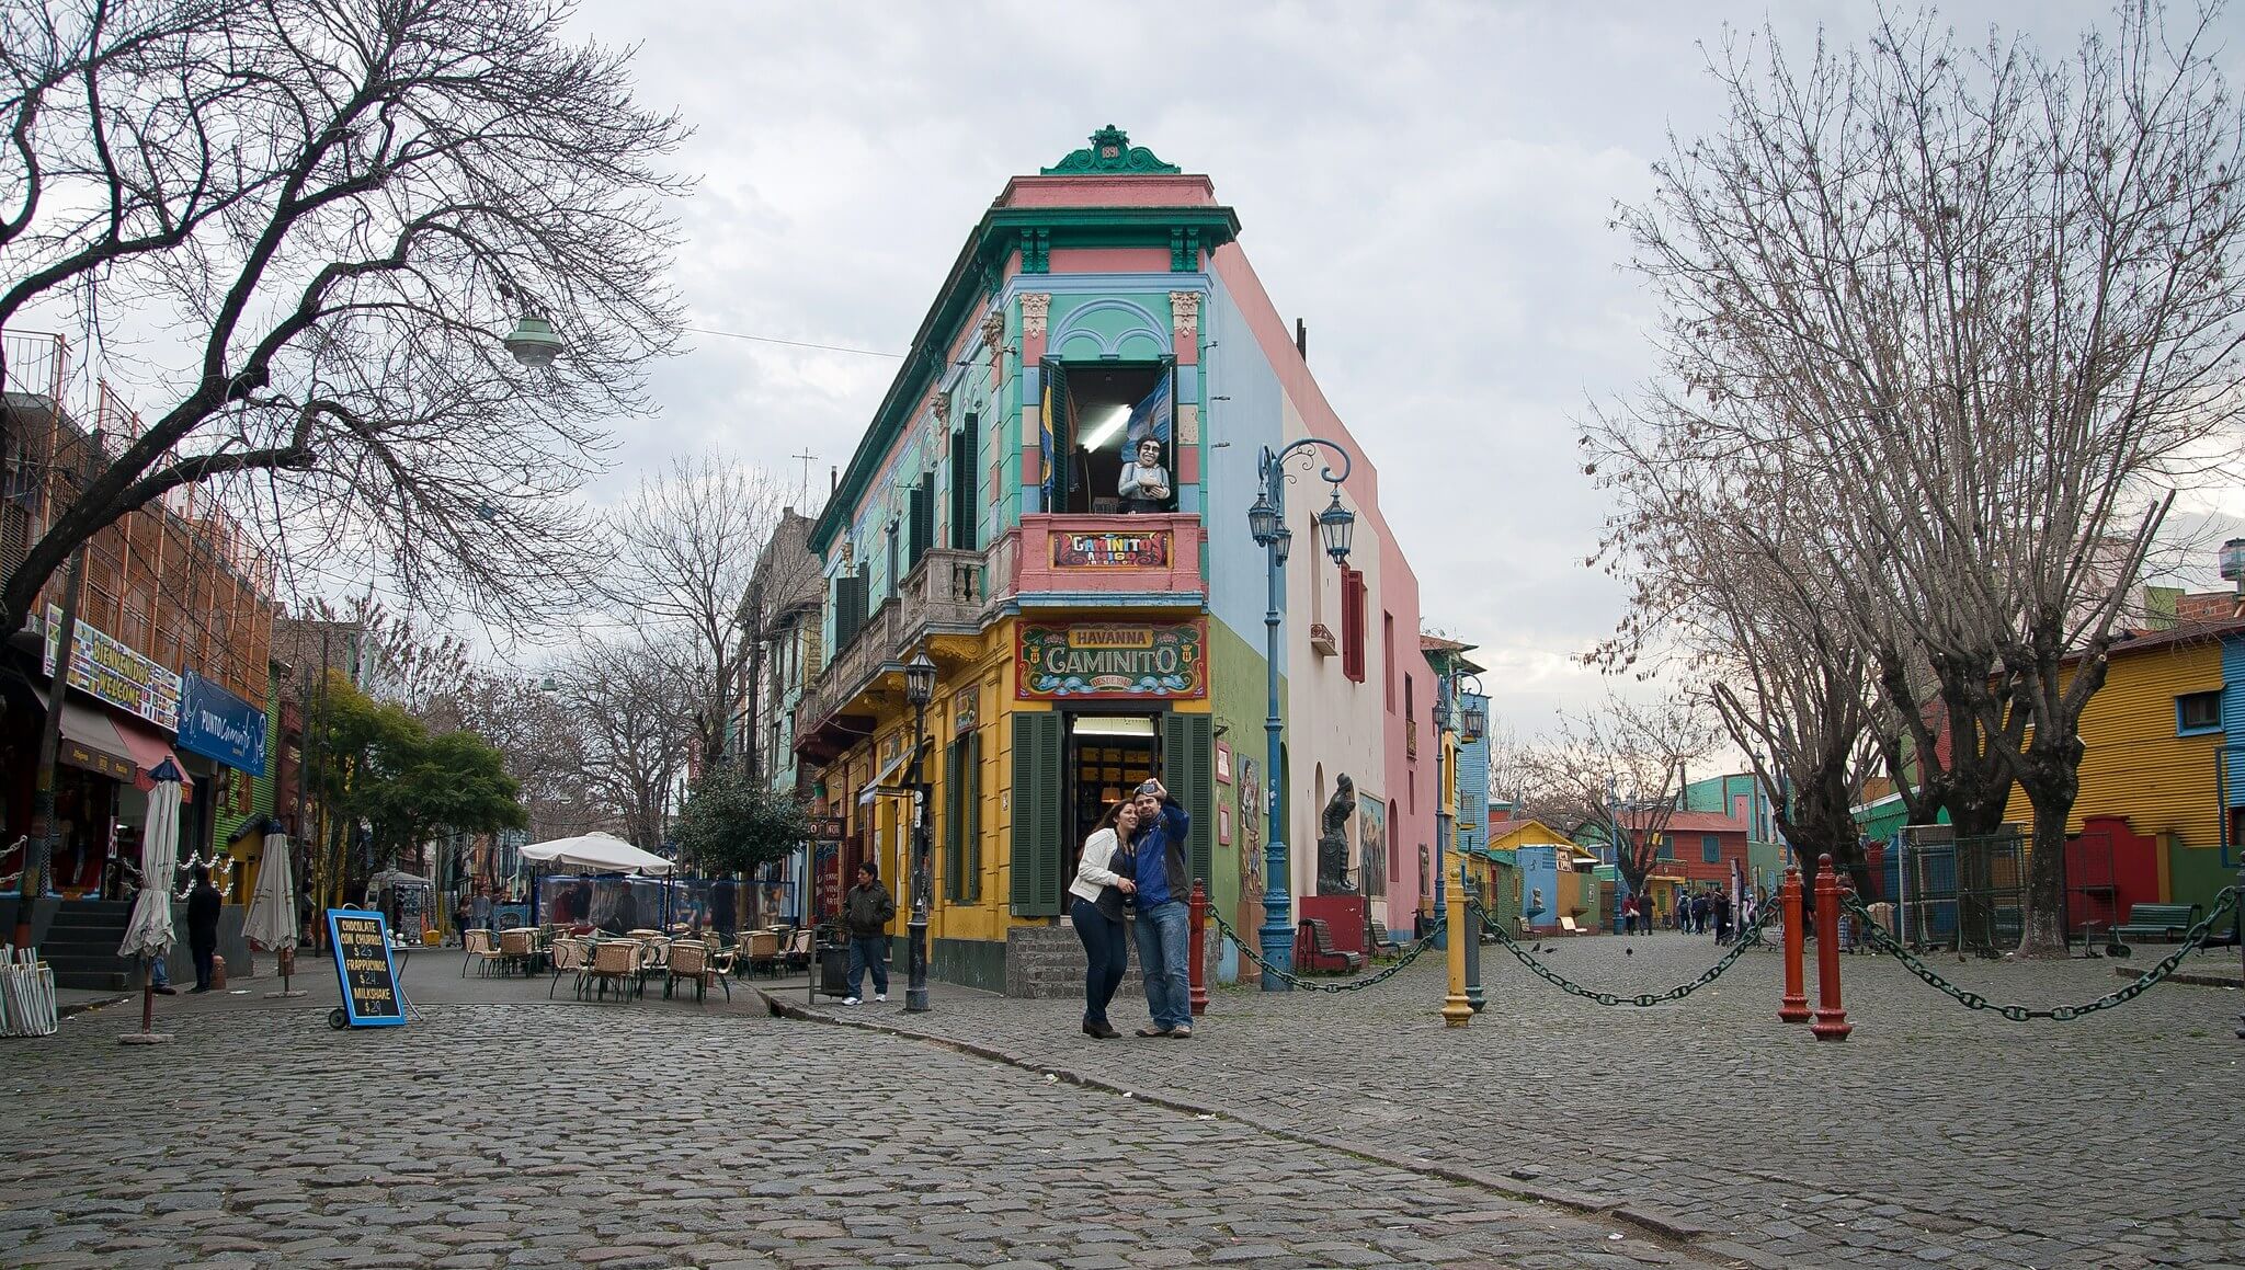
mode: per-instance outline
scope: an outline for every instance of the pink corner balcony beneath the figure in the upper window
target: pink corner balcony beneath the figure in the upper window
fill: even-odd
[[[990,547],[992,599],[1197,608],[1199,516],[1021,516]]]

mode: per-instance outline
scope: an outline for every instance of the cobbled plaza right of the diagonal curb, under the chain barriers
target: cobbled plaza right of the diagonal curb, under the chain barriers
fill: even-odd
[[[1690,981],[1717,956],[1682,933],[1542,947],[1554,969],[1623,994]],[[1488,1010],[1466,1030],[1435,1016],[1435,956],[1358,994],[1219,987],[1192,1041],[1096,1043],[1078,1003],[956,990],[923,1016],[822,1012],[1455,1165],[1767,1266],[2245,1266],[2245,994],[2169,985],[2074,1023],[2007,1023],[1893,960],[1843,963],[1845,1043],[1776,1021],[1780,960],[1760,949],[1682,1003],[1612,1010],[1486,947]],[[2108,960],[1935,965],[1998,1003],[2119,987]]]

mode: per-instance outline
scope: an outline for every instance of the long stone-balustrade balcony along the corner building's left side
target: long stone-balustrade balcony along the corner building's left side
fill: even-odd
[[[808,727],[797,738],[797,752],[837,754],[846,740],[862,734],[864,723],[842,725],[849,707],[871,691],[882,675],[902,673],[905,657],[932,635],[974,635],[990,606],[981,552],[932,547],[891,595],[867,615],[858,635],[835,651],[819,678],[804,689],[797,718]]]

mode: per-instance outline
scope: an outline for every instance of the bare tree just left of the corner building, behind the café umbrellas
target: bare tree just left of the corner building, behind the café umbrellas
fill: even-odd
[[[613,518],[608,599],[651,637],[667,633],[656,646],[678,657],[671,673],[694,687],[700,772],[725,761],[727,723],[743,696],[754,696],[748,684],[768,604],[752,588],[784,496],[766,471],[705,455],[642,480]],[[754,718],[748,723],[741,754],[754,765]]]

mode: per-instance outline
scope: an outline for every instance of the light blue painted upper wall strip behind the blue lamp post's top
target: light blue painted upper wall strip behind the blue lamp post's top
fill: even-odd
[[[1250,646],[1264,646],[1268,565],[1248,534],[1255,503],[1255,460],[1264,447],[1277,449],[1284,433],[1284,395],[1277,372],[1255,343],[1246,316],[1221,280],[1201,305],[1203,379],[1208,406],[1201,415],[1201,485],[1208,491],[1208,608]],[[1226,397],[1226,399],[1219,399]],[[1307,543],[1295,534],[1295,550]],[[1286,648],[1280,646],[1280,673]]]

